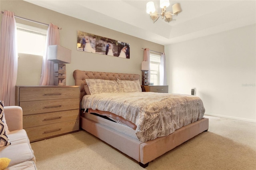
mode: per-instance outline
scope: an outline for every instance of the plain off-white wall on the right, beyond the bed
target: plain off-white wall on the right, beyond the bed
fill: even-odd
[[[207,115],[256,122],[256,26],[167,45],[169,93],[197,88]]]

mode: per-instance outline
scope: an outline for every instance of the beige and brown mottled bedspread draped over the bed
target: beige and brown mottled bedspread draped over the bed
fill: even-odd
[[[153,92],[85,95],[82,107],[108,111],[131,121],[137,125],[136,136],[142,142],[167,136],[202,119],[205,112],[199,97]]]

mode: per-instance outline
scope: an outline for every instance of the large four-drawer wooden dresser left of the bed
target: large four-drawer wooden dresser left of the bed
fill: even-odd
[[[79,86],[16,86],[30,142],[79,130]]]

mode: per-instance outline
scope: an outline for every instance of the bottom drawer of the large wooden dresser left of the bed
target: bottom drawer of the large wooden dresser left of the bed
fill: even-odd
[[[38,127],[24,128],[28,134],[30,142],[50,138],[67,132],[79,130],[79,121],[66,121]]]

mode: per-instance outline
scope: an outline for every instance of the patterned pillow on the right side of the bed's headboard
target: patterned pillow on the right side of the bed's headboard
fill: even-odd
[[[116,82],[119,85],[119,88],[122,92],[142,92],[140,86],[140,80],[119,80]]]

